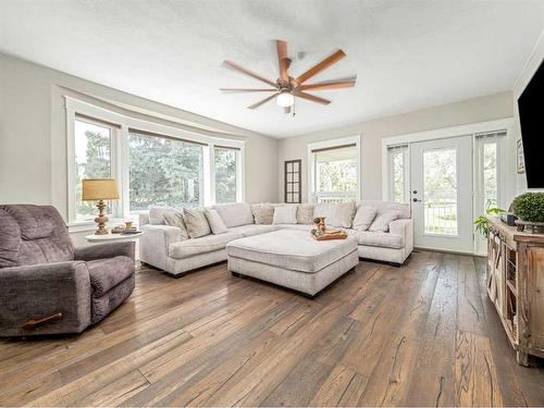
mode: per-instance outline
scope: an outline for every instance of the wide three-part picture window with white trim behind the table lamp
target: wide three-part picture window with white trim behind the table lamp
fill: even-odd
[[[82,200],[83,178],[118,180],[109,218],[151,207],[244,201],[243,140],[140,120],[66,97],[69,223],[92,222],[96,202]],[[120,220],[121,221],[121,220]]]

